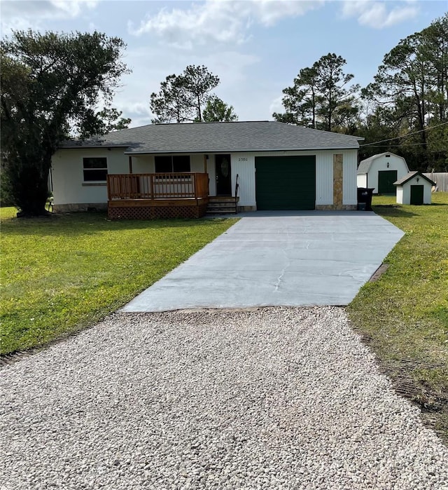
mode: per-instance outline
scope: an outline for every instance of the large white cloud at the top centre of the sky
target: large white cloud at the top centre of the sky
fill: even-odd
[[[323,0],[206,0],[190,8],[163,8],[135,27],[132,34],[155,34],[167,43],[192,48],[193,44],[242,43],[250,36],[249,27],[257,22],[274,25],[281,18],[297,17],[323,5]]]

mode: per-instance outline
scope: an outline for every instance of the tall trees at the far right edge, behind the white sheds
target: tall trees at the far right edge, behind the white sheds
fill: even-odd
[[[365,100],[387,107],[395,144],[418,170],[448,164],[448,14],[402,39],[384,56]]]

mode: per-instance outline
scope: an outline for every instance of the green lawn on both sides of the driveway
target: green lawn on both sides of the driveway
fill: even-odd
[[[405,236],[386,273],[348,308],[398,391],[448,440],[448,193],[433,205],[374,197]],[[223,233],[235,219],[110,222],[101,213],[1,219],[1,353],[93,325]]]

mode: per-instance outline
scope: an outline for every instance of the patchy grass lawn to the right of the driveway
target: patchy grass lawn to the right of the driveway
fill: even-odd
[[[374,196],[374,212],[405,236],[348,310],[398,392],[448,441],[448,193],[432,197],[432,205],[411,206]]]

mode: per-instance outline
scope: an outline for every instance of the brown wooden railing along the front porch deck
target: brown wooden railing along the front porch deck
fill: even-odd
[[[108,200],[207,198],[209,175],[195,172],[110,174],[107,196]]]

